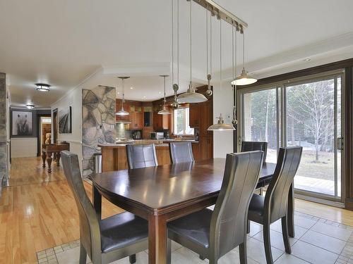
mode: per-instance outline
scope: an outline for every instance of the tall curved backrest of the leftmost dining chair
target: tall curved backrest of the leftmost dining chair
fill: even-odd
[[[61,151],[61,161],[68,186],[73,192],[73,197],[78,208],[80,218],[80,241],[92,259],[92,255],[100,252],[100,223],[95,208],[88,198],[78,165],[78,156],[69,151]]]

